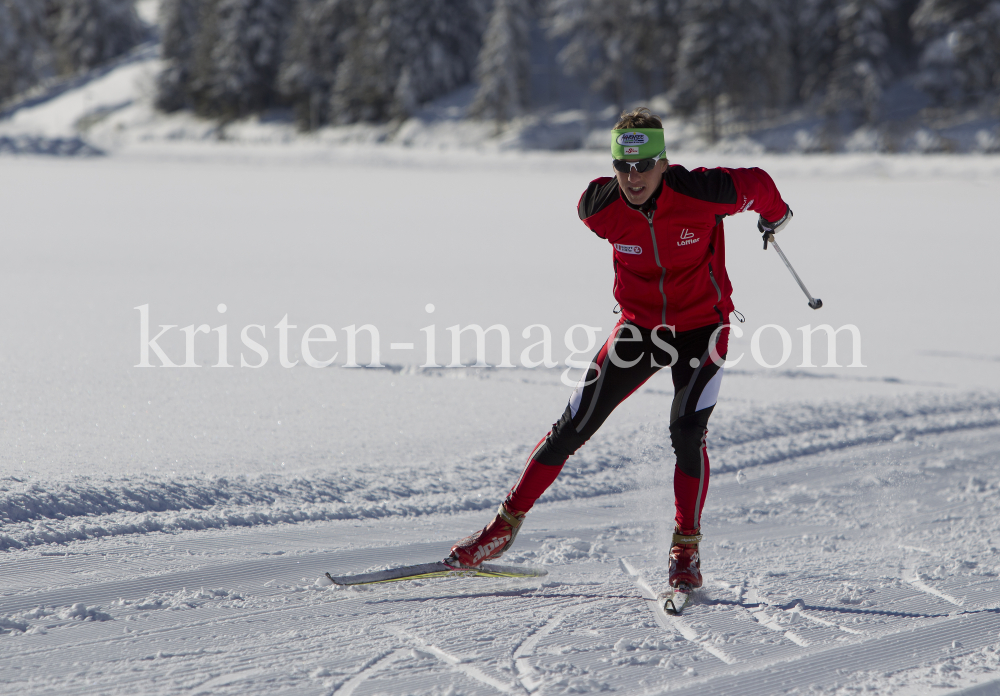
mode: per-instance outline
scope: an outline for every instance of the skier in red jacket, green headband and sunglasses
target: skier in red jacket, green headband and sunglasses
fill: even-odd
[[[476,567],[509,549],[525,514],[569,456],[618,404],[669,365],[670,440],[677,457],[669,582],[700,587],[698,543],[709,479],[705,438],[733,311],[722,219],[753,210],[760,215],[758,228],[768,234],[784,228],[792,211],[760,169],[688,171],[671,165],[663,125],[647,108],[622,114],[612,130],[611,153],[614,176],[592,181],[577,210],[613,247],[621,318],[496,517],[451,554],[457,564]]]

